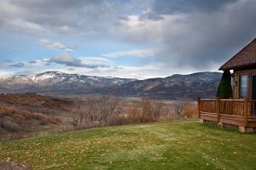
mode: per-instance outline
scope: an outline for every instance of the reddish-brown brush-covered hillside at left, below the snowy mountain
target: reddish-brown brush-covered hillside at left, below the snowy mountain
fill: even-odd
[[[0,141],[8,139],[10,134],[20,138],[21,133],[61,127],[67,122],[67,108],[72,104],[37,94],[0,94]]]

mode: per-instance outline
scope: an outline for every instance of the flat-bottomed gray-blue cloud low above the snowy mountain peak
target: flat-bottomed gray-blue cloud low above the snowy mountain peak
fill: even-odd
[[[85,68],[98,68],[98,67],[109,67],[108,65],[98,65],[94,64],[91,61],[96,61],[97,59],[89,59],[89,58],[75,58],[70,54],[60,54],[55,55],[51,59],[49,59],[49,63],[57,63],[61,65],[73,66],[73,67],[85,67]],[[99,59],[98,59],[99,60]]]

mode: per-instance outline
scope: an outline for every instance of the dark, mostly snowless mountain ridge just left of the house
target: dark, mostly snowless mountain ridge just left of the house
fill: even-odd
[[[221,73],[201,72],[190,75],[173,75],[127,82],[118,88],[108,90],[108,94],[125,96],[147,95],[156,99],[197,99],[216,96]]]

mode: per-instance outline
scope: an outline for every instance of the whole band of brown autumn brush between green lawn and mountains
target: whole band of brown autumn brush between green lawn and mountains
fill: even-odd
[[[0,140],[4,140],[4,135],[20,139],[33,132],[57,133],[183,119],[195,117],[196,110],[195,103],[189,100],[124,99],[109,95],[64,100],[37,94],[0,94]]]

